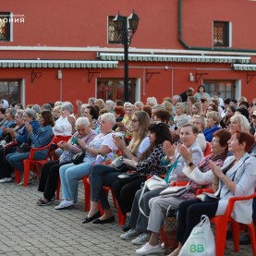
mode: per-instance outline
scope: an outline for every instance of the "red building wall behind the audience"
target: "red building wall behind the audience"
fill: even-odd
[[[95,52],[71,51],[3,51],[1,46],[68,46],[87,47],[100,46],[105,51],[122,45],[107,44],[107,16],[129,15],[135,10],[140,17],[139,29],[135,34],[130,51],[137,49],[179,49],[184,47],[178,42],[178,0],[9,0],[2,1],[1,10],[21,14],[24,23],[14,23],[14,41],[1,42],[1,59],[95,59]],[[213,20],[232,22],[232,47],[255,49],[256,2],[247,0],[183,0],[182,1],[182,35],[185,43],[191,46],[211,47],[213,44]],[[149,52],[150,53],[150,52]],[[230,54],[231,55],[231,54]],[[245,54],[246,55],[246,54]],[[253,60],[255,57],[252,58]],[[165,70],[168,67],[183,69]],[[123,62],[119,68],[96,69],[102,78],[123,78]],[[189,63],[129,63],[129,77],[140,79],[140,98],[145,101],[149,96],[156,96],[159,101],[163,97],[185,91],[188,87],[197,89],[196,84],[189,81],[189,73],[195,74],[196,68],[228,68],[230,71],[207,70],[208,76],[202,79],[242,79],[242,94],[250,100],[254,95],[256,79],[246,83],[246,72],[232,70],[230,64],[189,64]],[[140,68],[133,68],[140,67]],[[150,68],[152,67],[152,69]],[[159,68],[154,68],[159,67]],[[147,83],[144,71],[160,72]],[[202,70],[202,69],[201,69]],[[41,79],[30,82],[32,69],[2,68],[0,79],[26,79],[26,104],[43,104],[59,100],[59,80],[57,69],[39,68],[43,72]],[[88,69],[63,69],[63,98],[73,103],[80,98],[87,101],[95,96],[95,79],[88,81]],[[255,81],[254,81],[255,80]],[[143,86],[145,95],[143,95]]]

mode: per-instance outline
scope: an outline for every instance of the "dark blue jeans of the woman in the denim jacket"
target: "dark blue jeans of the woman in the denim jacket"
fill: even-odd
[[[13,152],[8,153],[6,155],[6,161],[11,165],[14,169],[17,169],[20,173],[24,172],[23,160],[28,159],[30,157],[30,152]],[[45,154],[41,152],[35,152],[34,158],[35,160],[43,160],[45,159]]]

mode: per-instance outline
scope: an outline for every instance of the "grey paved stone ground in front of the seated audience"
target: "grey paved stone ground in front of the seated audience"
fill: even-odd
[[[40,197],[36,183],[28,189],[15,183],[0,184],[0,255],[136,255],[138,247],[118,238],[121,229],[116,223],[81,224],[86,215],[81,183],[79,203],[73,209],[56,211],[57,202],[36,206]],[[239,253],[234,252],[228,242],[225,255],[252,252],[250,246],[241,246]]]

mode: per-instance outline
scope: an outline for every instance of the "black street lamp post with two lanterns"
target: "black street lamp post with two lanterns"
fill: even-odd
[[[138,29],[139,17],[133,11],[129,17],[124,17],[116,15],[113,19],[115,30],[118,35],[120,35],[122,44],[124,44],[124,61],[125,61],[125,70],[124,70],[124,87],[125,87],[125,102],[128,102],[128,44],[131,43],[131,39]]]

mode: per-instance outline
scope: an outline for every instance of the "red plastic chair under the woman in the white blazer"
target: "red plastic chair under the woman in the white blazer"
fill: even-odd
[[[211,218],[211,222],[215,225],[215,241],[216,241],[216,255],[221,256],[224,255],[226,248],[226,229],[227,224],[232,224],[232,233],[233,233],[233,242],[234,242],[234,250],[239,250],[239,226],[240,224],[236,222],[231,214],[233,212],[234,204],[236,201],[246,201],[256,197],[256,192],[246,197],[233,197],[228,200],[226,213],[221,216],[216,216]],[[250,224],[243,225],[248,226],[248,230],[250,233],[250,243],[253,251],[253,255],[256,255],[256,239],[255,239],[255,229],[253,221],[251,220]]]

